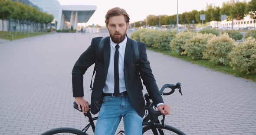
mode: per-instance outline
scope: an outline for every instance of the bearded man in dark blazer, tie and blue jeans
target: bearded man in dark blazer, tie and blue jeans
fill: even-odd
[[[91,45],[76,61],[72,71],[73,96],[79,109],[89,110],[83,99],[83,74],[97,59],[97,71],[91,96],[91,112],[98,113],[95,135],[114,135],[121,117],[125,135],[141,135],[145,113],[142,83],[161,113],[170,114],[170,107],[164,104],[147,59],[146,44],[138,42],[138,68],[132,48],[132,41],[126,35],[129,16],[119,7],[108,10],[105,16],[110,38],[103,46],[103,53],[96,58],[102,37],[92,39]],[[138,70],[137,70],[138,69]],[[102,101],[103,97],[103,101]],[[103,103],[102,103],[102,102]],[[101,105],[101,107],[100,107]],[[82,106],[82,108],[80,108]]]

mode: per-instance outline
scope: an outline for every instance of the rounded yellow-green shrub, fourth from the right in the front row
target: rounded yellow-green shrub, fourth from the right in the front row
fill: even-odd
[[[176,52],[177,50],[181,53],[184,51],[185,43],[195,35],[195,32],[179,32],[175,35],[174,39],[170,43],[171,50]]]

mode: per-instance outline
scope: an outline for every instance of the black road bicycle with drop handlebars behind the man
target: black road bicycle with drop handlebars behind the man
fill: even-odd
[[[171,88],[171,91],[168,93],[164,93],[165,88]],[[160,93],[161,95],[171,95],[174,93],[175,89],[179,89],[179,92],[182,95],[181,92],[181,83],[177,83],[176,85],[174,84],[165,84],[161,90]],[[153,102],[151,101],[150,96],[148,93],[144,94],[144,98],[146,100],[146,114],[143,119],[143,129],[142,129],[142,134],[143,135],[186,135],[184,132],[182,132],[179,129],[176,129],[170,125],[165,125],[164,124],[164,119],[165,115],[162,115],[160,111],[156,110],[157,107],[154,106]],[[78,105],[74,102],[73,106],[75,109],[78,109]],[[89,105],[90,108],[90,105]],[[82,112],[82,110],[79,110]],[[94,120],[98,119],[98,117],[92,117],[92,114],[90,113],[90,109],[84,113],[85,117],[88,117],[89,119],[89,124],[85,126],[82,130],[79,129],[74,129],[74,128],[57,128],[57,129],[51,129],[49,131],[44,132],[41,135],[57,135],[59,133],[62,133],[61,135],[66,135],[66,134],[74,134],[74,135],[88,135],[86,131],[89,129],[89,127],[92,127],[92,131],[95,131],[95,124]],[[163,119],[161,120],[161,123],[158,119],[159,116],[163,116]],[[65,134],[66,133],[66,134]],[[118,132],[117,135],[124,135],[124,131]]]

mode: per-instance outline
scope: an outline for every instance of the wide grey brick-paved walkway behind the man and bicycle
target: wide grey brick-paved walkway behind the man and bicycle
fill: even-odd
[[[84,127],[87,119],[72,107],[71,71],[99,35],[60,33],[0,44],[0,135]],[[150,50],[148,59],[159,88],[182,84],[184,96],[164,96],[171,106],[166,124],[187,135],[256,135],[255,82]],[[84,79],[87,100],[92,71]]]

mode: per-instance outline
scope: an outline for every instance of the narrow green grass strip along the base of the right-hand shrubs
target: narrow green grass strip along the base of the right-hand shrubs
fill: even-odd
[[[193,64],[198,64],[198,65],[201,65],[201,66],[204,66],[204,67],[216,70],[216,71],[231,74],[236,77],[242,77],[242,78],[256,82],[256,74],[246,74],[245,72],[235,71],[235,70],[233,70],[233,67],[230,67],[229,65],[228,66],[216,65],[215,63],[208,61],[208,60],[204,60],[204,59],[193,60],[191,57],[189,57],[187,55],[180,55],[179,53],[174,53],[174,52],[168,51],[168,50],[161,50],[161,49],[156,49],[156,48],[151,48],[151,47],[148,47],[148,49],[160,52],[164,55],[170,55],[170,56],[173,56],[176,58],[180,58],[185,61],[191,62]]]

